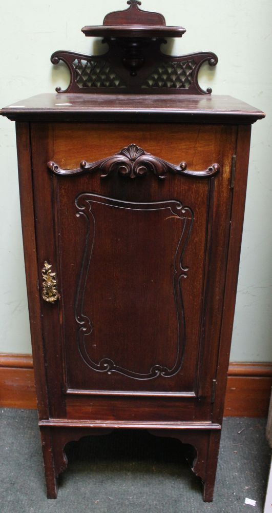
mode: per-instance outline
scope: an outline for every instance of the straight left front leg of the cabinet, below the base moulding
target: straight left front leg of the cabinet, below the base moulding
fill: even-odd
[[[41,446],[43,448],[47,498],[57,498],[57,475],[55,471],[54,452],[50,429],[40,429]]]

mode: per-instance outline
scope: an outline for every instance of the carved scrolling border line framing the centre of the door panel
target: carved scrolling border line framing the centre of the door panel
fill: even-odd
[[[122,210],[124,212],[125,210],[128,210],[131,214],[132,212],[135,212],[136,216],[139,215],[139,212],[144,212],[145,215],[149,215],[149,213],[154,215],[155,212],[158,214],[161,211],[169,211],[169,217],[166,216],[166,220],[170,220],[168,222],[171,222],[173,219],[180,221],[180,235],[178,237],[177,246],[173,251],[173,274],[171,276],[170,273],[168,276],[169,286],[173,291],[177,319],[176,353],[173,356],[173,366],[168,367],[166,365],[158,364],[156,361],[154,361],[154,364],[150,367],[149,370],[146,370],[145,372],[138,372],[131,368],[125,368],[121,362],[114,361],[115,358],[113,356],[101,358],[99,360],[96,360],[94,356],[92,356],[93,345],[90,343],[90,339],[92,340],[92,337],[94,336],[94,330],[91,316],[88,313],[86,306],[86,286],[87,283],[92,282],[91,260],[97,233],[96,225],[98,214],[96,209],[97,205],[99,204],[106,207],[106,211],[109,209],[109,207],[111,209],[117,208],[118,210]],[[83,253],[82,267],[75,303],[75,320],[78,325],[77,343],[82,360],[92,370],[97,372],[105,372],[108,374],[115,372],[136,380],[151,380],[158,378],[159,376],[162,378],[170,378],[175,376],[175,374],[179,372],[182,366],[185,347],[185,321],[181,293],[181,280],[187,277],[187,271],[189,270],[189,268],[183,264],[183,255],[185,253],[194,222],[194,213],[192,209],[190,207],[183,206],[179,201],[176,200],[151,203],[133,203],[106,198],[105,196],[93,194],[90,192],[83,192],[79,194],[79,196],[77,196],[75,199],[75,205],[78,210],[76,213],[77,218],[84,218],[87,224],[85,251]]]

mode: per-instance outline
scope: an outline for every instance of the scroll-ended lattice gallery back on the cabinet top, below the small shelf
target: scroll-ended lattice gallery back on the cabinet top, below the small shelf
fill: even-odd
[[[198,83],[202,64],[216,66],[218,62],[212,52],[172,56],[163,53],[162,40],[154,38],[103,41],[108,43],[109,49],[102,55],[63,50],[51,55],[52,64],[62,61],[70,71],[68,87],[57,87],[58,93],[210,95],[212,92],[211,88],[202,89]]]

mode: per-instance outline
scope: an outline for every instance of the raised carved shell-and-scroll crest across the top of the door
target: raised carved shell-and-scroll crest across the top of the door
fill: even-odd
[[[86,172],[100,171],[101,178],[106,178],[113,172],[119,173],[121,176],[136,178],[137,176],[144,176],[148,172],[154,173],[159,179],[164,180],[167,173],[174,173],[184,176],[211,177],[219,170],[219,164],[212,164],[203,171],[193,171],[187,169],[186,162],[181,162],[179,165],[171,164],[157,156],[147,153],[136,144],[122,148],[115,155],[111,155],[106,159],[101,159],[96,162],[88,163],[86,161],[80,162],[80,167],[76,169],[61,169],[58,164],[53,161],[48,162],[48,168],[57,175],[71,176],[79,175]]]

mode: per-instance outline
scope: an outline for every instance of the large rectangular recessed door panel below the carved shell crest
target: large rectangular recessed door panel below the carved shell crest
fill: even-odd
[[[57,180],[68,389],[195,394],[209,182],[195,228],[189,179],[175,200],[139,203]]]

